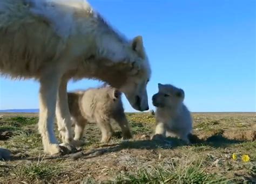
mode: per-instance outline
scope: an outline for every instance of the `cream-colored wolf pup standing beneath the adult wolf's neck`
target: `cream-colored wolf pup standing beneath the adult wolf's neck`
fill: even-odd
[[[109,142],[113,134],[111,121],[118,123],[123,139],[132,138],[121,95],[119,90],[110,86],[68,93],[69,110],[75,123],[74,140],[78,145],[82,144],[79,140],[87,123],[97,123],[102,132],[102,143]]]

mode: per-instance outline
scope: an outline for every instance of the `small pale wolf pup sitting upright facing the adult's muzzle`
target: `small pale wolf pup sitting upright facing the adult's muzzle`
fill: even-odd
[[[183,89],[158,83],[158,93],[152,96],[156,107],[155,135],[178,137],[190,143],[188,136],[192,131],[192,117],[183,104],[184,97]]]

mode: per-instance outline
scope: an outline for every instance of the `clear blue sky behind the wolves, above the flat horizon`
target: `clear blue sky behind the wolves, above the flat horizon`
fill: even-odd
[[[157,83],[185,90],[191,111],[256,111],[254,0],[91,0],[127,38],[142,35]],[[70,82],[69,90],[100,84]],[[0,78],[0,109],[38,108],[39,84]],[[124,98],[126,111],[134,111]]]

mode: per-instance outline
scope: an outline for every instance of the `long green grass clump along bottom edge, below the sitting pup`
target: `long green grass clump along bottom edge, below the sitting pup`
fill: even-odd
[[[208,174],[201,164],[184,167],[164,166],[139,169],[130,174],[120,174],[114,180],[117,183],[227,183],[232,181],[224,176]]]

